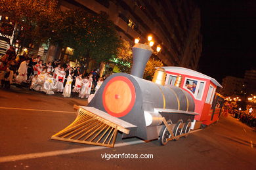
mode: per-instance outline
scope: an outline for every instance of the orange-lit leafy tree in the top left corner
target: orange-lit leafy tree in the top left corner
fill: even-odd
[[[14,40],[20,48],[28,43],[47,42],[61,20],[58,1],[1,0],[1,14],[8,16],[9,25],[14,29]],[[8,31],[1,31],[3,37],[9,37]],[[9,42],[11,44],[11,42]]]

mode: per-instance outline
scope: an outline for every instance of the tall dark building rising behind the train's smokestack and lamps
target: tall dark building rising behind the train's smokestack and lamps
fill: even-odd
[[[152,35],[160,44],[164,65],[197,69],[202,52],[200,9],[192,0],[62,0],[60,9],[82,7],[106,12],[121,39],[146,42]]]

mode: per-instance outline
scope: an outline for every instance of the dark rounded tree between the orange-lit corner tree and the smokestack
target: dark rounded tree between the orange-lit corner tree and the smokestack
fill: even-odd
[[[104,12],[90,14],[84,9],[68,10],[64,13],[62,29],[56,33],[62,37],[64,46],[74,48],[74,59],[90,59],[96,62],[109,61],[116,56],[119,37],[115,25]]]

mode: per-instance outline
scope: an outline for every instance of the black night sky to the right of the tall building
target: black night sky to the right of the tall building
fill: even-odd
[[[198,0],[203,50],[198,71],[222,82],[256,69],[256,0]]]

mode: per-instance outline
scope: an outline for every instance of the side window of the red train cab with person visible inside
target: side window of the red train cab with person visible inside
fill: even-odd
[[[205,82],[186,78],[183,88],[188,89],[188,92],[192,93],[196,99],[202,100]]]

